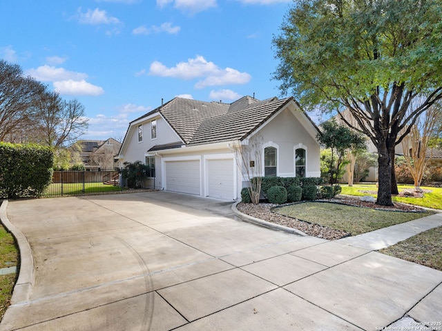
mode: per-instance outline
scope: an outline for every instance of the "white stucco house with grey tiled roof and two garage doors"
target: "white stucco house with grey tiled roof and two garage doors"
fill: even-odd
[[[177,97],[129,124],[119,165],[144,161],[155,168],[155,188],[235,200],[247,185],[238,143],[262,139],[262,176],[319,177],[316,134],[293,98],[227,104]]]

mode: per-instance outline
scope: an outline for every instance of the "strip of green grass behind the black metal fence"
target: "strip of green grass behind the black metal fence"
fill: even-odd
[[[62,186],[60,183],[52,183],[49,185],[43,195],[47,197],[51,195],[76,195],[121,190],[122,188],[119,186],[104,185],[104,183],[67,183],[63,184]]]

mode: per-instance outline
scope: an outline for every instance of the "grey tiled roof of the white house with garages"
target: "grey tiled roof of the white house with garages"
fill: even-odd
[[[260,101],[247,96],[229,104],[176,97],[131,123],[154,114],[161,114],[186,146],[242,140],[290,101],[294,99],[271,98]],[[306,117],[318,130],[311,119],[307,115]],[[154,146],[151,151],[179,146],[182,146],[182,143]]]

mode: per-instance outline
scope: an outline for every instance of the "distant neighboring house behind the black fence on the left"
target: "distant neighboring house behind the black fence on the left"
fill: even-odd
[[[87,168],[115,168],[118,167],[116,159],[122,143],[113,138],[102,140],[80,140],[80,157],[84,167]]]

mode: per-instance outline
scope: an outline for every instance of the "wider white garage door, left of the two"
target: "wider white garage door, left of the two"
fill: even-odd
[[[201,194],[200,161],[167,161],[166,190]]]

